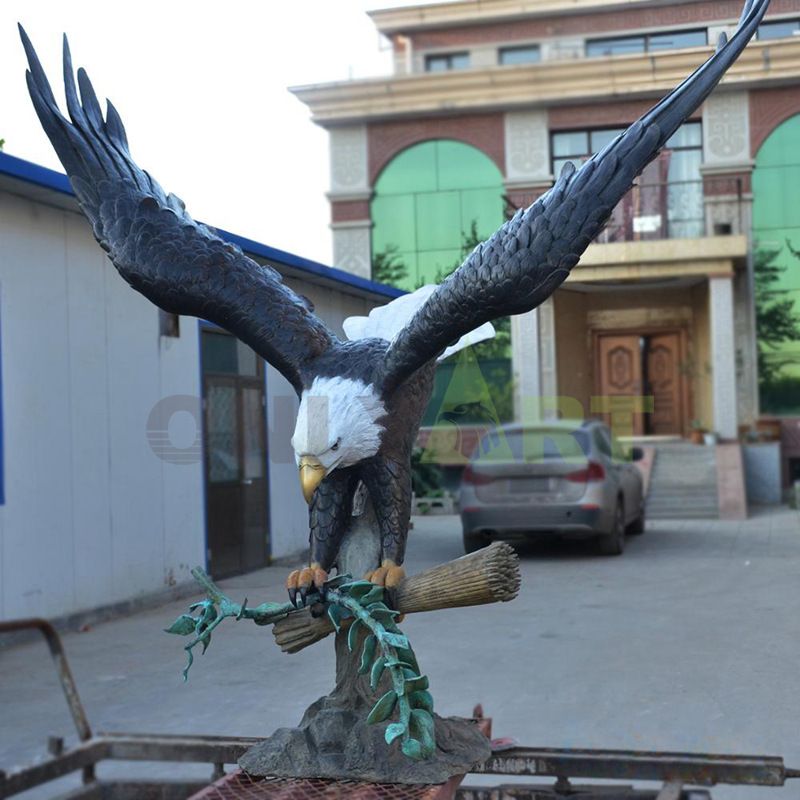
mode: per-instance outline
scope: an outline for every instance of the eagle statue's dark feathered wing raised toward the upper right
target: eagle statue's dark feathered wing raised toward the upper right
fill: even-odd
[[[569,275],[634,178],[697,109],[755,33],[769,0],[746,0],[735,34],[683,83],[579,170],[480,244],[398,334],[384,366],[391,391],[468,331],[530,311]]]

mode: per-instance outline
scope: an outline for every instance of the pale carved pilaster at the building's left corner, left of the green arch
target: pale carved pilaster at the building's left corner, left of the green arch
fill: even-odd
[[[369,278],[372,273],[371,188],[366,125],[330,130],[331,231],[333,265]]]

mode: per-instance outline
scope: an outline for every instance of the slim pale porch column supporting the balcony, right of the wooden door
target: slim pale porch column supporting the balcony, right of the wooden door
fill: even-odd
[[[723,439],[736,439],[736,344],[734,341],[733,275],[708,280],[711,327],[711,383],[714,429]]]

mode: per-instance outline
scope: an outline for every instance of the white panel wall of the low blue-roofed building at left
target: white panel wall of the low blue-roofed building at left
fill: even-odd
[[[337,335],[364,298],[287,280]],[[200,413],[199,332],[158,312],[116,274],[85,220],[0,191],[0,334],[6,502],[0,618],[61,616],[190,579],[205,561],[203,463],[153,452],[160,401]],[[272,555],[308,542],[289,441],[297,400],[267,372]]]

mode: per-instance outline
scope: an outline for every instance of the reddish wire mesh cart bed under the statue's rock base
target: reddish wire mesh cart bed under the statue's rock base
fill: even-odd
[[[237,770],[190,800],[436,800],[444,796],[444,788],[323,778],[258,778]]]

